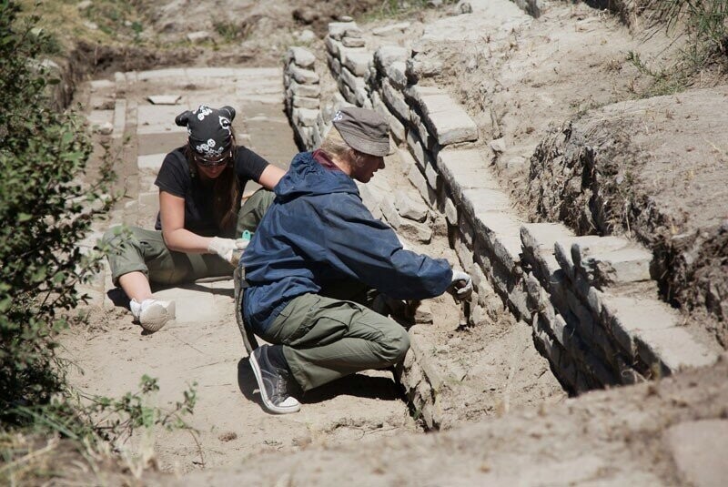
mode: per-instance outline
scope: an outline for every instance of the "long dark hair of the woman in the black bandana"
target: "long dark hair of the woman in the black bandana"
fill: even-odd
[[[215,223],[222,235],[232,235],[238,221],[238,201],[240,196],[240,181],[235,174],[235,158],[238,154],[235,132],[231,130],[232,142],[230,152],[227,156],[227,165],[220,175],[215,178],[212,187],[212,211],[215,216]],[[197,164],[195,163],[195,149],[189,143],[185,147],[185,156],[189,166],[189,174],[192,178],[198,178]]]

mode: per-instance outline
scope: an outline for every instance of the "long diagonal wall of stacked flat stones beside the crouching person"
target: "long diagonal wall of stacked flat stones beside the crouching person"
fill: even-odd
[[[331,25],[330,74],[343,99],[370,104],[389,121],[407,177],[444,222],[442,231],[473,278],[471,325],[509,309],[531,326],[535,346],[562,385],[577,393],[717,359],[654,298],[648,251],[623,238],[574,237],[563,225],[523,220],[490,172],[490,149],[479,142],[474,121],[446,91],[418,84],[432,66],[423,66],[417,47],[381,46],[369,56],[364,43],[347,40],[360,38],[354,23]],[[361,192],[372,213],[396,227],[397,207],[376,189]],[[428,221],[438,231],[438,218]],[[412,354],[416,363],[426,360]],[[437,411],[436,384],[411,363],[400,370],[410,401]],[[437,416],[430,421],[437,424]]]

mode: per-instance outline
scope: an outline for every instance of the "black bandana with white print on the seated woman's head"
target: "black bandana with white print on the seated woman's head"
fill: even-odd
[[[235,108],[210,108],[200,105],[195,111],[177,115],[175,123],[187,127],[189,145],[203,157],[219,157],[232,143],[232,122]]]

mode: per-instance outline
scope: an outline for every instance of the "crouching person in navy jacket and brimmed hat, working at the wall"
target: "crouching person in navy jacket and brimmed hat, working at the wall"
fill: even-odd
[[[407,331],[368,307],[376,291],[394,299],[472,291],[470,277],[446,260],[402,249],[362,204],[354,180],[368,182],[387,154],[386,121],[344,108],[319,150],[298,154],[274,188],[242,259],[244,319],[272,343],[250,357],[268,411],[300,409],[291,380],[308,391],[404,358]]]

